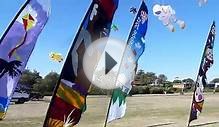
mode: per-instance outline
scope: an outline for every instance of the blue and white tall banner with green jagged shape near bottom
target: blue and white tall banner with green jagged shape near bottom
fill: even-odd
[[[138,59],[145,49],[144,37],[147,32],[147,25],[148,9],[145,2],[142,1],[127,41],[128,46],[130,46],[135,55],[135,59],[134,61],[130,61],[130,55],[126,51],[124,52],[122,66],[119,70],[119,76],[116,82],[117,84],[122,83],[122,87],[117,88],[113,91],[109,112],[107,115],[107,122],[120,119],[125,115],[126,96],[129,94],[132,88],[131,82],[134,79]]]

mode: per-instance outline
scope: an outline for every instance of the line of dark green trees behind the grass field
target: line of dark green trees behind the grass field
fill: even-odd
[[[59,74],[56,72],[50,72],[45,77],[42,77],[38,71],[26,69],[18,84],[21,90],[29,93],[37,92],[41,95],[52,95],[58,79]],[[144,70],[139,70],[132,82],[133,88],[130,94],[162,94],[164,92],[179,92],[181,90],[173,88],[173,85],[177,83],[188,84],[189,87],[187,87],[186,90],[192,91],[195,81],[191,78],[185,78],[183,80],[176,78],[173,81],[168,81],[165,74],[156,75],[154,72],[144,72]],[[219,83],[219,78],[213,79],[210,83]],[[109,95],[111,93],[112,90],[103,90],[95,86],[92,86],[90,92],[92,95]]]

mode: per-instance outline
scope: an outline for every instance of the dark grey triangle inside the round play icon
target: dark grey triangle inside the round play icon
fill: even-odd
[[[105,52],[105,74],[108,74],[116,64],[117,62],[107,52]]]

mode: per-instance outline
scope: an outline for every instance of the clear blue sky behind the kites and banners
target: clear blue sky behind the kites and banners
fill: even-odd
[[[2,34],[25,0],[0,1],[0,33]],[[196,78],[203,53],[204,44],[213,20],[219,22],[217,13],[219,1],[209,0],[203,7],[198,0],[146,0],[149,10],[149,24],[146,35],[146,49],[139,60],[139,69],[156,74],[165,74],[169,80]],[[29,69],[40,71],[46,75],[50,71],[61,72],[62,64],[53,62],[48,54],[52,51],[65,56],[74,39],[91,0],[51,0],[52,12],[50,19],[38,38],[33,54],[27,64]],[[113,23],[119,31],[111,32],[111,36],[127,40],[134,15],[129,8],[139,7],[141,0],[120,0],[119,8]],[[170,4],[176,16],[186,22],[181,30],[169,32],[152,14],[154,4]],[[219,40],[216,36],[214,47],[215,64],[208,71],[208,80],[219,77]]]

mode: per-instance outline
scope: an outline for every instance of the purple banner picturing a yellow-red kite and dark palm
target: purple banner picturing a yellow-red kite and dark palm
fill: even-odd
[[[49,12],[49,0],[27,0],[0,40],[0,119],[5,117],[13,91]]]

